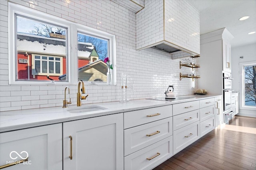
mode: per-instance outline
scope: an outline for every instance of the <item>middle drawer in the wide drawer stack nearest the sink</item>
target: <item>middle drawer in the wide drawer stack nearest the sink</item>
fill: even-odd
[[[124,156],[172,135],[172,117],[124,130]]]

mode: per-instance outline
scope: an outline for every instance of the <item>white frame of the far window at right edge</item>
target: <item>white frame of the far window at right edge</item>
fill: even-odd
[[[239,63],[239,70],[240,70],[240,93],[239,93],[239,105],[240,109],[247,109],[247,110],[255,110],[256,106],[246,106],[245,105],[245,89],[244,89],[244,67],[245,66],[250,66],[250,65],[255,65],[255,61],[250,61],[250,62],[244,62],[244,63]]]

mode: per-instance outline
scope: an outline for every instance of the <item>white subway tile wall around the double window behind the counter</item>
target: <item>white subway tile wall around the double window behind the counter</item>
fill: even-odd
[[[128,98],[164,96],[168,85],[176,95],[193,94],[197,81],[180,81],[180,60],[154,49],[136,51],[136,15],[110,0],[9,0],[47,14],[81,23],[116,35],[117,86],[86,85],[86,103],[119,101],[121,73],[134,79]],[[69,3],[66,3],[69,2]],[[8,84],[8,1],[0,0],[0,111],[62,106],[65,86]],[[193,24],[193,23],[191,23]],[[77,85],[70,86],[72,105],[76,104]]]

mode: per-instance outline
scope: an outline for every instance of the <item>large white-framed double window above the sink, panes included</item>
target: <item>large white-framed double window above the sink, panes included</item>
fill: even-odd
[[[11,2],[8,8],[9,84],[116,85],[115,35]]]

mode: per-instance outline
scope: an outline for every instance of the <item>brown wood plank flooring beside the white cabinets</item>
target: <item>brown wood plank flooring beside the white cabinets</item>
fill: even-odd
[[[256,170],[256,118],[235,116],[153,170]]]

